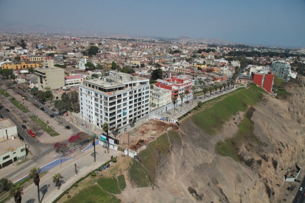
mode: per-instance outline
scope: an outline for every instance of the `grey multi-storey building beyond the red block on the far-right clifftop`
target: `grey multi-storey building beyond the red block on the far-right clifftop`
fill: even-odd
[[[276,76],[283,79],[285,82],[290,81],[291,67],[286,61],[273,61],[271,68]]]

